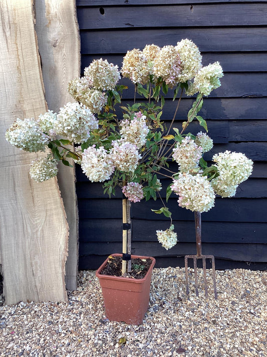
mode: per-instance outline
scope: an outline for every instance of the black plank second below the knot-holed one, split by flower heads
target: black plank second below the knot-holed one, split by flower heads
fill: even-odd
[[[266,71],[267,53],[223,53],[223,52],[203,52],[202,64],[203,66],[209,63],[218,61],[224,72],[257,72]],[[109,63],[113,63],[121,69],[123,55],[113,54],[97,54],[97,55],[82,55],[82,72],[85,67],[88,67],[94,59],[106,59]]]

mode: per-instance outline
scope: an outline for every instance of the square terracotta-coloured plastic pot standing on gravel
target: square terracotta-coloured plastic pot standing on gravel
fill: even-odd
[[[121,254],[112,254],[121,257]],[[155,259],[152,257],[132,256],[132,259],[150,259],[151,266],[143,279],[132,279],[101,275],[108,258],[99,267],[96,276],[102,288],[106,316],[111,321],[123,321],[132,325],[140,325],[148,309],[150,283]]]

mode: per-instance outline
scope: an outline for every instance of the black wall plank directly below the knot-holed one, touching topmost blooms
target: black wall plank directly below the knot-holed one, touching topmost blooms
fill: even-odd
[[[119,31],[81,31],[81,53],[126,53],[154,43],[160,47],[176,45],[188,38],[204,51],[266,51],[266,29],[187,28],[187,29],[124,29]],[[114,41],[116,39],[116,41]],[[231,39],[231,41],[229,41]]]

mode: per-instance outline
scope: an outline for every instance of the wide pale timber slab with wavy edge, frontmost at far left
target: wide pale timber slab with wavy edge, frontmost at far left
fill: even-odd
[[[66,301],[66,213],[56,179],[37,183],[29,164],[44,154],[11,146],[5,132],[17,117],[47,110],[33,2],[1,2],[0,50],[0,251],[7,304]]]

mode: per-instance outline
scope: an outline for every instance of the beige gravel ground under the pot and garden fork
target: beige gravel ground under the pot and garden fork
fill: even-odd
[[[216,271],[218,299],[184,268],[154,269],[140,326],[109,321],[95,271],[79,274],[69,302],[0,306],[0,356],[267,356],[267,272]],[[1,299],[0,299],[1,300]]]

